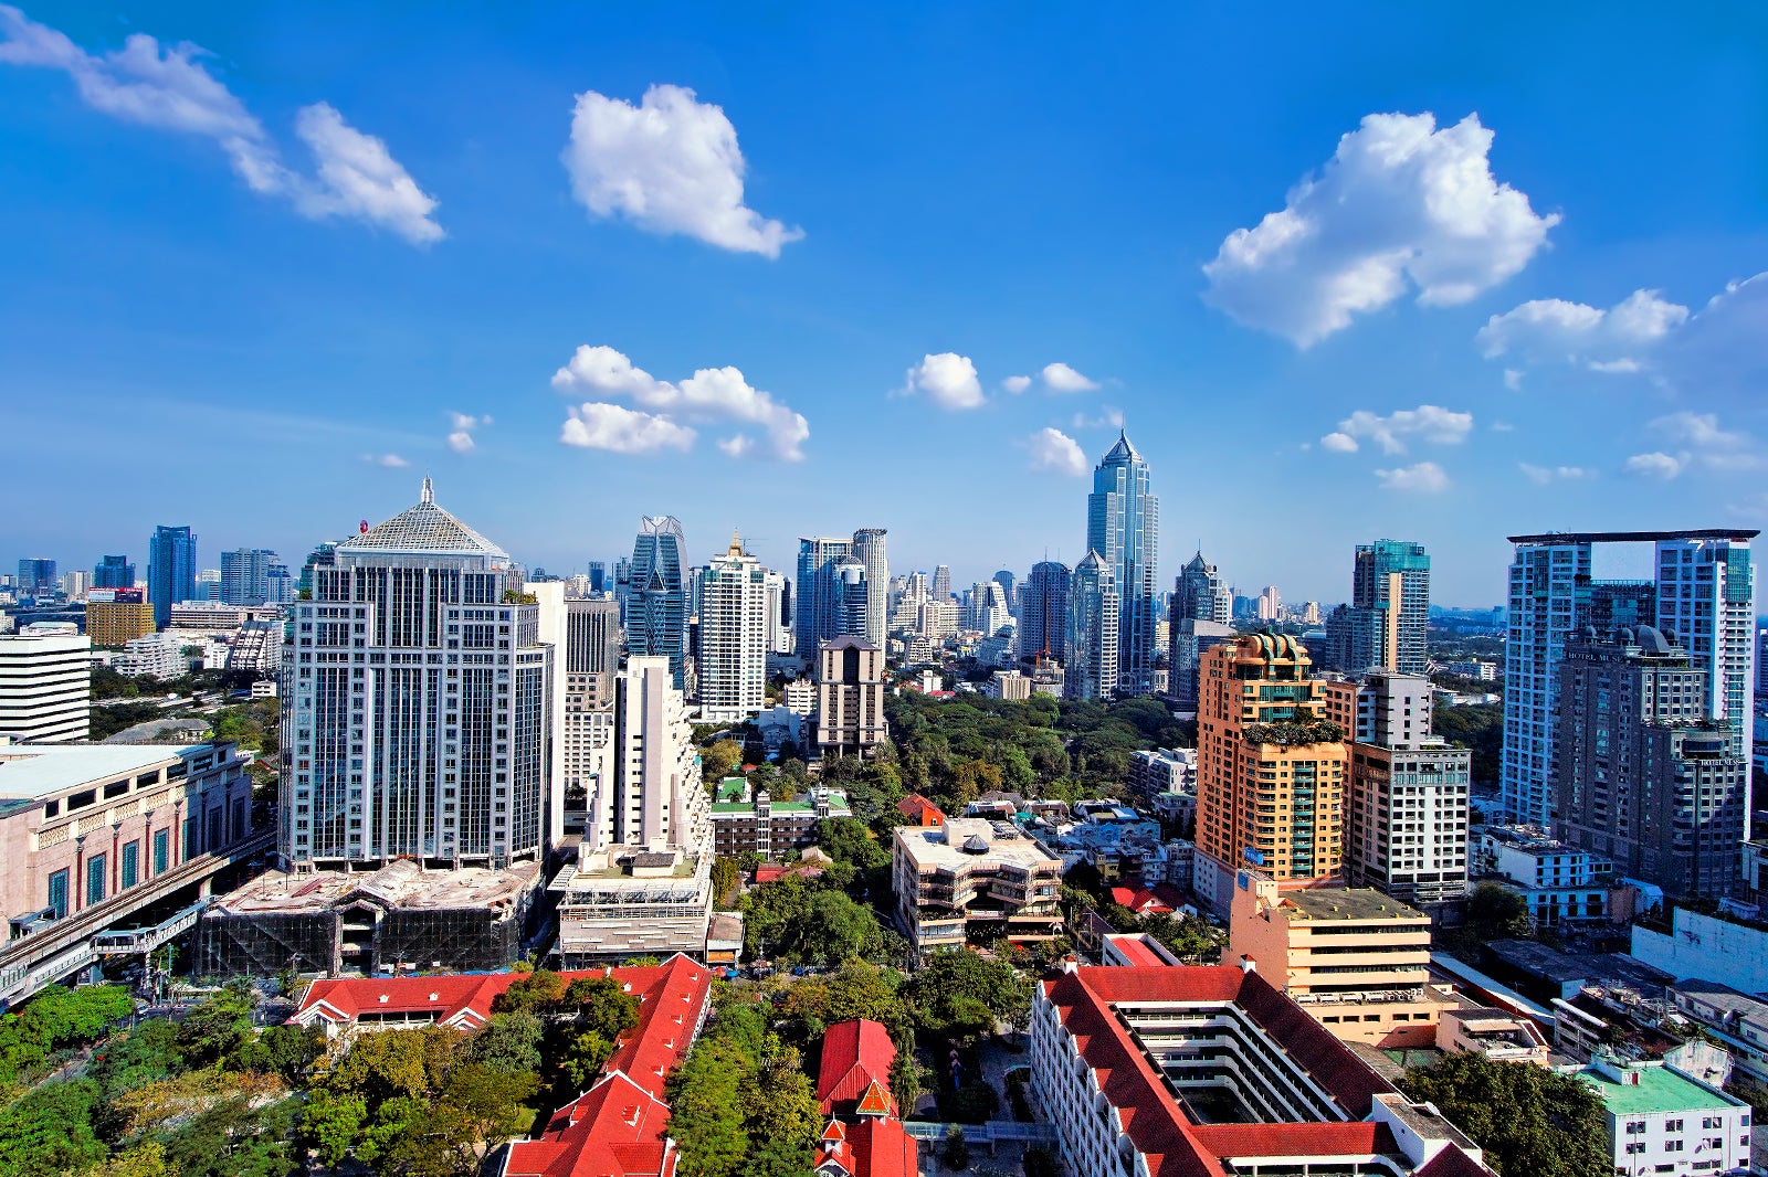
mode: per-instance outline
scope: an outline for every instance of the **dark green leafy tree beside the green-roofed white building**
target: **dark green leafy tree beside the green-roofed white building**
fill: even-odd
[[[1588,1085],[1524,1062],[1444,1055],[1407,1071],[1400,1089],[1429,1099],[1485,1149],[1505,1177],[1607,1177],[1607,1120]]]

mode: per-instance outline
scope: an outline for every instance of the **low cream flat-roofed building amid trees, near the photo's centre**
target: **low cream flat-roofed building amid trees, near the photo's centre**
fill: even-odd
[[[916,953],[962,945],[969,935],[1013,942],[1063,935],[1063,861],[1010,822],[902,825],[891,878],[896,928]]]

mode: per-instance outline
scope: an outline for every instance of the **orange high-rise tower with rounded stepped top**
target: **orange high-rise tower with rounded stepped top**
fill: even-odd
[[[1197,852],[1215,871],[1206,898],[1246,862],[1278,882],[1338,875],[1349,733],[1326,721],[1326,682],[1310,666],[1287,634],[1243,636],[1204,656]]]

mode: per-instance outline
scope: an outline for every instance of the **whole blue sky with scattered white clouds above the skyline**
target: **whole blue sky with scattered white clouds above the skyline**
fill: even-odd
[[[1119,419],[1167,583],[1768,520],[1759,7],[1185,7],[0,9],[0,535],[299,560],[428,472],[550,571],[969,583]]]

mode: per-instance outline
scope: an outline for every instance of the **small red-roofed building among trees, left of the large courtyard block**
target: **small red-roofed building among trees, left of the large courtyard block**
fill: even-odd
[[[889,1069],[896,1044],[877,1021],[838,1021],[822,1036],[817,1099],[829,1117],[820,1177],[914,1177],[916,1145],[896,1115]]]

